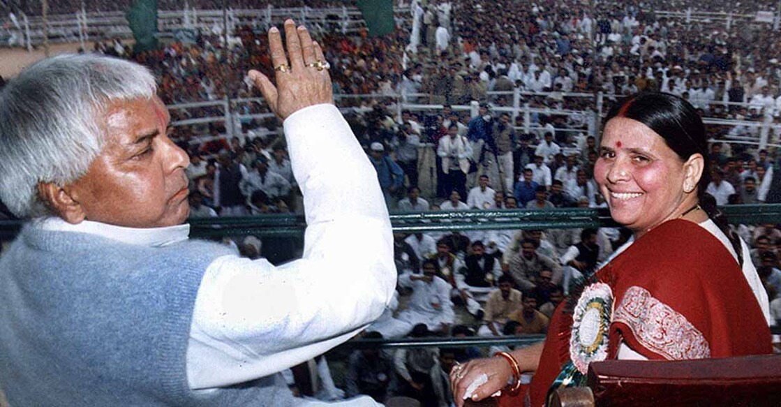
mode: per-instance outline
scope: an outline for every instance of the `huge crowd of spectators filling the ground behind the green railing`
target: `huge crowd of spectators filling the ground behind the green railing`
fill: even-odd
[[[375,167],[389,209],[604,208],[594,184],[600,152],[589,135],[597,99],[566,94],[603,92],[609,103],[637,91],[667,91],[688,99],[709,118],[776,120],[781,113],[779,31],[750,24],[727,30],[660,18],[648,11],[651,3],[655,9],[689,4],[599,2],[592,8],[560,0],[522,6],[511,0],[412,2],[412,15],[394,34],[330,33],[319,41],[337,95],[376,95],[344,99],[340,105],[358,108],[348,113],[348,122]],[[726,11],[770,5],[775,2],[756,2],[748,9],[730,3],[733,8]],[[230,45],[219,34],[202,33],[194,44],[174,41],[137,55],[119,40],[98,44],[95,52],[148,66],[159,77],[166,104],[255,97],[245,73],[272,66],[268,43],[249,27],[234,34],[241,41]],[[524,117],[501,109],[512,105],[510,92],[516,88],[522,102],[552,109],[531,115],[530,133],[520,130]],[[396,99],[381,96],[400,92],[417,94],[408,100],[436,108],[399,109],[397,116]],[[454,109],[471,101],[480,102],[475,116]],[[258,103],[241,109],[244,115],[268,112]],[[171,114],[175,121],[223,112],[205,107]],[[226,137],[224,123],[176,127],[174,139],[191,159],[191,216],[300,212],[287,146],[277,137],[280,123],[269,118],[236,124],[241,131],[234,137]],[[711,137],[740,140],[758,137],[759,127],[706,129]],[[714,165],[708,169],[708,193],[718,205],[777,202],[771,188],[778,171],[773,150],[719,141],[710,148]],[[774,224],[733,229],[751,245],[773,317],[781,319],[781,230]],[[394,234],[397,298],[365,337],[544,334],[556,305],[629,236],[627,230],[607,227]],[[275,264],[300,250],[294,239],[226,241],[247,257],[262,256]],[[371,395],[378,402],[406,395],[424,405],[448,405],[452,366],[480,355],[476,348],[355,351],[348,362],[346,395]]]

